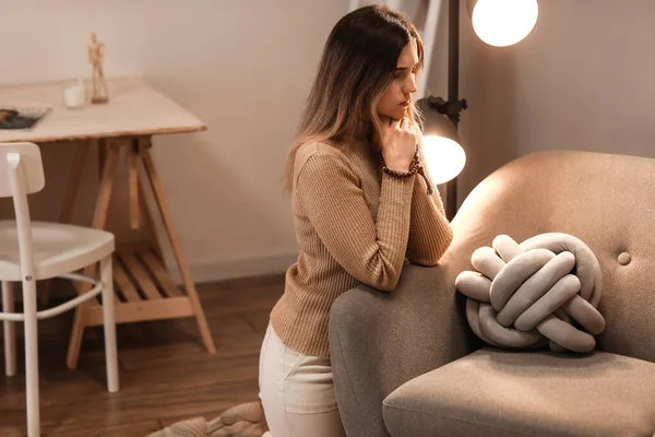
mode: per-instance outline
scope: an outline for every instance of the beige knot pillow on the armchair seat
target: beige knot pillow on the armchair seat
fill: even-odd
[[[522,244],[507,235],[473,252],[457,291],[477,336],[497,347],[590,352],[605,330],[598,260],[579,238],[540,234]]]

